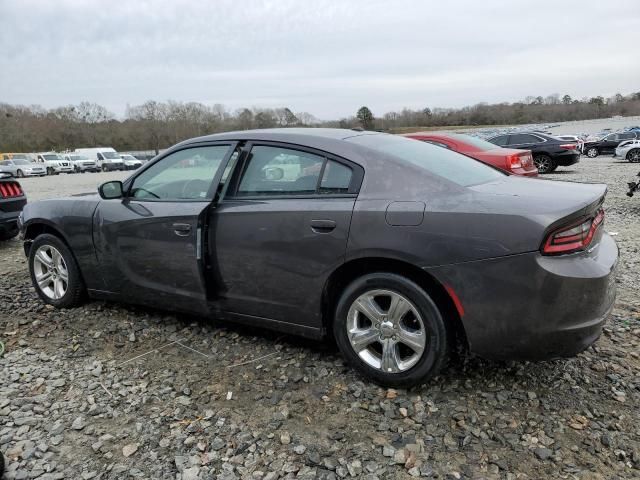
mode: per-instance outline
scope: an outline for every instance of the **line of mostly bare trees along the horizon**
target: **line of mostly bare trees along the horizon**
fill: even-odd
[[[0,151],[34,152],[111,146],[120,151],[155,150],[186,138],[231,130],[273,127],[340,127],[401,131],[407,128],[513,125],[640,115],[640,92],[573,99],[558,94],[531,96],[514,103],[480,103],[463,108],[429,108],[387,112],[366,106],[354,116],[320,121],[307,112],[283,108],[241,108],[197,102],[147,101],[129,106],[118,119],[101,105],[45,109],[38,105],[0,103]]]

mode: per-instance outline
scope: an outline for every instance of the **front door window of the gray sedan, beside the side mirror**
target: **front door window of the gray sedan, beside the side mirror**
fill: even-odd
[[[144,200],[211,200],[213,178],[229,145],[179,150],[138,175],[129,196]]]

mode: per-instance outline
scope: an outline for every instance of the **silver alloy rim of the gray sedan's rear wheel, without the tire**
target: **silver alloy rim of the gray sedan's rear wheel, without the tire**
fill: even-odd
[[[358,356],[385,373],[409,370],[427,348],[427,332],[416,306],[391,290],[370,290],[356,298],[346,327]]]

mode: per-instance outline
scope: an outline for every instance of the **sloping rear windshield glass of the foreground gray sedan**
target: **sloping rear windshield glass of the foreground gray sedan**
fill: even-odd
[[[360,135],[347,141],[393,155],[464,187],[502,178],[505,173],[452,150],[394,135]],[[494,146],[495,148],[495,146]]]

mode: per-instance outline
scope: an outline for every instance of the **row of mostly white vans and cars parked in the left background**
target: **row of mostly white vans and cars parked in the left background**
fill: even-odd
[[[145,155],[145,161],[148,158]],[[130,154],[120,154],[111,147],[77,148],[73,152],[3,153],[0,172],[14,177],[58,175],[113,170],[135,170],[142,160]]]

